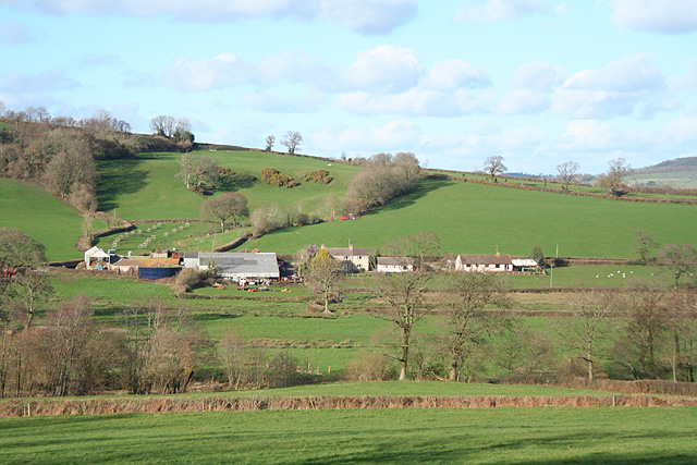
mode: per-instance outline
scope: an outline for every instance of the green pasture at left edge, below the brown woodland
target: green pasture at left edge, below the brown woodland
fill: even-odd
[[[82,224],[80,211],[42,186],[0,179],[0,227],[17,229],[41,242],[49,260],[81,258],[75,245]]]

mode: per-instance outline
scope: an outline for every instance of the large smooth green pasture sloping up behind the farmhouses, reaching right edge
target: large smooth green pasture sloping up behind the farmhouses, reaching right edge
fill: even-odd
[[[379,212],[267,234],[245,246],[293,254],[307,244],[381,247],[390,240],[435,231],[441,253],[529,256],[535,244],[552,256],[634,257],[634,232],[659,244],[697,245],[697,206],[625,203],[553,193],[426,180]]]

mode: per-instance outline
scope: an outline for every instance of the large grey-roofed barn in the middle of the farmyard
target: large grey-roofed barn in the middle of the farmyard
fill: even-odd
[[[198,253],[198,260],[184,255],[186,268],[218,269],[221,278],[239,279],[279,279],[279,264],[274,253]],[[195,264],[195,267],[188,265]]]

